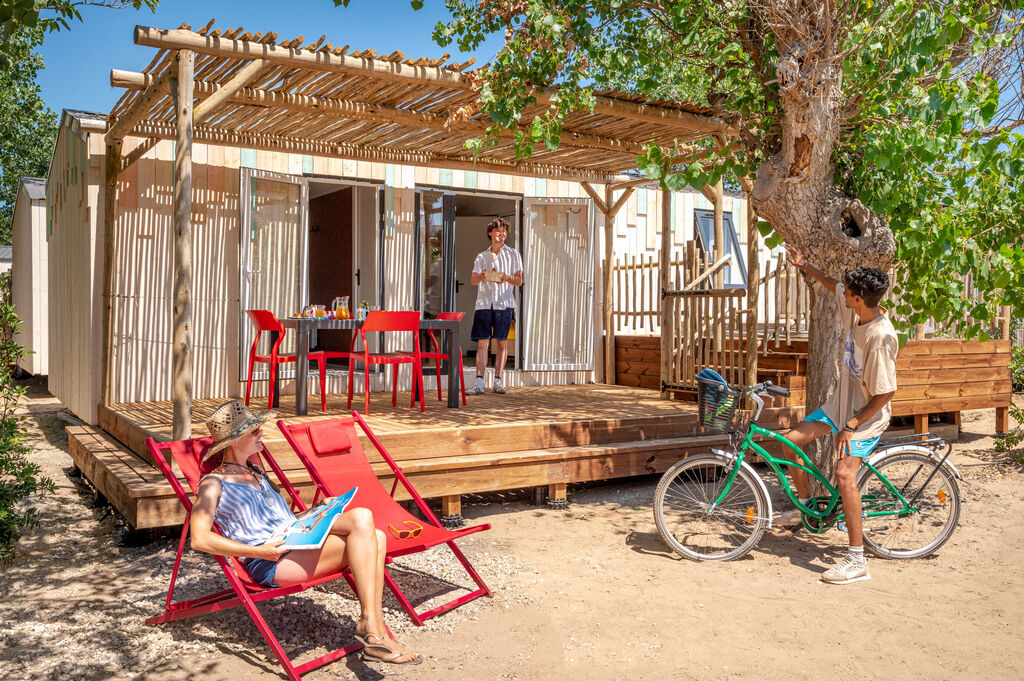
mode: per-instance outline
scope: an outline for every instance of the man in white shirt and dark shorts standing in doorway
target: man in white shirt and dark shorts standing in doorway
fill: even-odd
[[[522,258],[505,241],[509,237],[508,220],[496,217],[487,223],[490,248],[476,256],[469,283],[476,290],[471,338],[476,341],[476,385],[471,394],[483,394],[483,375],[487,370],[490,339],[497,341],[494,389],[500,395],[507,391],[502,382],[502,370],[508,358],[509,329],[515,322],[515,290],[522,286]]]

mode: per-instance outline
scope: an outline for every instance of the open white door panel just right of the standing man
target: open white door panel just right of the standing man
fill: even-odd
[[[594,369],[589,199],[523,200],[522,369]]]

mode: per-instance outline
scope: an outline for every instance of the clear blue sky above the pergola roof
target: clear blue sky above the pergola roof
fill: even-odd
[[[427,0],[420,11],[409,0],[351,0],[348,7],[335,7],[332,0],[163,0],[156,14],[148,9],[81,9],[82,23],[50,34],[40,49],[46,69],[39,74],[39,86],[46,104],[57,113],[111,110],[123,92],[111,87],[111,69],[141,71],[156,54],[155,48],[133,42],[136,25],[174,29],[184,23],[199,30],[215,17],[217,28],[272,31],[279,41],[326,35],[327,42],[348,43],[352,50],[399,49],[408,57],[451,52],[461,60],[475,56],[477,63],[490,59],[501,46],[501,37],[494,36],[473,54],[462,54],[456,45],[438,47],[430,34],[447,16],[441,0]]]

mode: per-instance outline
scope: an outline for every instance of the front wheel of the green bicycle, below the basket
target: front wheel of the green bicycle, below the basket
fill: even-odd
[[[745,555],[768,524],[768,500],[754,474],[740,468],[722,503],[733,462],[705,454],[665,472],[654,492],[654,523],[672,549],[693,560],[733,560]]]

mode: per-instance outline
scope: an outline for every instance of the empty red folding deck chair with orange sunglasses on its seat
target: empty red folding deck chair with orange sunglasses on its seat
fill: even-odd
[[[380,453],[381,457],[394,472],[394,484],[390,494],[384,488],[377,474],[374,473],[367,456],[359,442],[358,433],[355,431],[355,424],[359,425],[362,432]],[[476,583],[478,589],[468,594],[464,594],[442,605],[438,605],[426,612],[417,612],[416,608],[401,592],[391,574],[384,570],[384,583],[394,594],[401,607],[409,614],[410,619],[417,626],[430,618],[447,612],[463,603],[478,598],[489,596],[490,590],[476,573],[473,566],[469,564],[466,556],[463,555],[459,547],[455,545],[455,540],[472,535],[484,529],[490,529],[489,524],[474,525],[462,529],[445,529],[437,520],[430,507],[423,501],[413,485],[406,478],[401,468],[394,462],[391,455],[387,453],[377,436],[371,432],[366,421],[358,412],[352,412],[352,418],[335,418],[322,421],[307,421],[305,423],[288,424],[278,421],[278,427],[285,435],[285,439],[292,445],[295,453],[302,460],[302,463],[309,470],[309,475],[316,484],[316,499],[322,496],[335,497],[344,494],[353,486],[358,486],[359,492],[352,502],[354,506],[369,508],[374,513],[374,521],[377,528],[387,535],[387,560],[388,562],[398,556],[419,553],[427,549],[447,545],[455,554],[462,566]],[[398,488],[398,483],[402,486],[416,502],[416,505],[427,518],[426,523],[420,523],[413,514],[407,511],[398,502],[394,500],[394,493]],[[414,528],[410,531],[410,528]],[[420,529],[416,529],[420,528]],[[409,536],[415,533],[415,536]]]

